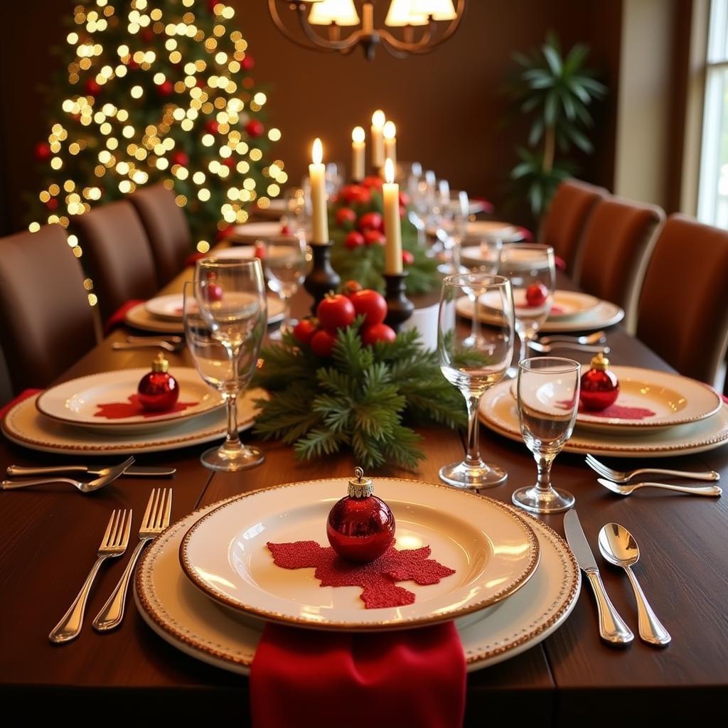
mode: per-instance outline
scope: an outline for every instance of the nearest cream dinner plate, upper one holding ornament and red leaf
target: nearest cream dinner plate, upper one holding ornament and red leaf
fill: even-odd
[[[534,532],[502,503],[416,480],[374,479],[392,509],[400,549],[430,546],[454,569],[437,584],[407,589],[414,604],[366,609],[360,587],[322,587],[314,569],[282,569],[267,543],[328,547],[326,521],[347,480],[288,483],[243,494],[200,518],[180,547],[183,571],[224,606],[274,622],[327,630],[389,630],[443,622],[501,601],[534,573]]]

